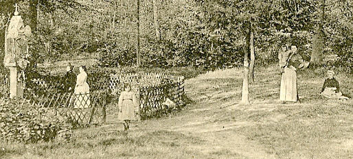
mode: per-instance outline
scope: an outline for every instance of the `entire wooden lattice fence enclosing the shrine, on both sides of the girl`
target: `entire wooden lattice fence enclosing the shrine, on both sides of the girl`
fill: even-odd
[[[139,106],[135,109],[140,119],[161,117],[171,110],[179,110],[185,103],[184,78],[181,76],[165,75],[161,73],[128,73],[102,74],[88,73],[91,94],[89,108],[74,108],[76,99],[73,93],[62,90],[62,78],[59,76],[36,76],[27,79],[25,98],[40,106],[53,108],[58,114],[65,114],[77,123],[104,123],[106,105],[110,99],[117,99],[124,83],[129,83],[137,93]],[[0,82],[8,84],[8,74],[0,73]],[[0,87],[1,95],[8,95],[9,86]],[[170,99],[173,104],[168,105]]]

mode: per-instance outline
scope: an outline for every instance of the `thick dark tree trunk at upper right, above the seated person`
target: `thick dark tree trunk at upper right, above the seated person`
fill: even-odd
[[[323,34],[323,23],[325,21],[325,0],[321,0],[320,22],[317,25],[315,35],[312,38],[312,53],[310,57],[310,66],[316,67],[323,64],[323,46],[325,41]]]

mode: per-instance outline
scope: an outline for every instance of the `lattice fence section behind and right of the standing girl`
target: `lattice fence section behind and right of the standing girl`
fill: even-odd
[[[124,83],[132,85],[139,101],[139,117],[144,120],[150,117],[161,117],[171,110],[182,108],[185,103],[184,78],[161,73],[115,74],[111,75],[109,88],[112,95],[119,95]],[[174,102],[168,106],[167,99]]]

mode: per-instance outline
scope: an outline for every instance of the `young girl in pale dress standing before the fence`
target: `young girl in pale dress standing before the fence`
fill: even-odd
[[[130,121],[135,120],[134,107],[136,106],[135,92],[130,91],[130,84],[124,84],[124,91],[119,96],[119,117],[118,119],[124,121],[124,132],[128,134]]]

